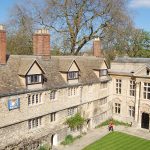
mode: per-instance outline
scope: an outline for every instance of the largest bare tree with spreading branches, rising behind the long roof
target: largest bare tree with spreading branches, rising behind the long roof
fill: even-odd
[[[36,26],[59,35],[62,47],[77,55],[92,39],[103,38],[106,29],[123,24],[126,6],[126,0],[24,0],[18,7],[26,9]]]

